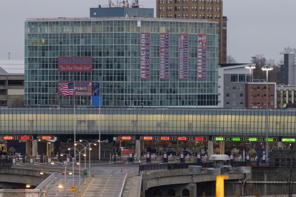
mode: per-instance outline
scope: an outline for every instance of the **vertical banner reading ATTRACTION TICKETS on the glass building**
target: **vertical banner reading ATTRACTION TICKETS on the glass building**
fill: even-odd
[[[141,79],[150,79],[150,33],[141,33]]]

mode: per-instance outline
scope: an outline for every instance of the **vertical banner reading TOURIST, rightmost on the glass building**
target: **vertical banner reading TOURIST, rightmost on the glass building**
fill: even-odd
[[[207,34],[197,35],[197,78],[207,80]]]

